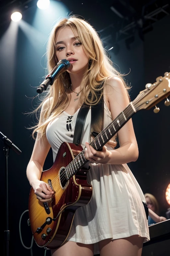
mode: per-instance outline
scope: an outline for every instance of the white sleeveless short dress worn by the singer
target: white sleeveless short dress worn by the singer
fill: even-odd
[[[73,142],[77,112],[70,116],[65,111],[48,124],[46,136],[53,151],[53,160],[62,142]],[[91,110],[89,110],[82,137],[82,147],[90,142]],[[112,122],[111,112],[104,104],[104,128]],[[109,150],[113,150],[108,146]],[[149,241],[148,222],[142,201],[143,192],[127,164],[91,163],[88,182],[93,187],[91,201],[79,207],[67,240],[94,244],[94,254],[99,254],[98,242],[139,235]]]

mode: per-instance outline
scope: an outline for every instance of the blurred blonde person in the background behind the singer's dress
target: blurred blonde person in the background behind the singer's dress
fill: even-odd
[[[163,216],[159,216],[159,204],[156,197],[152,194],[144,194],[146,204],[149,208],[148,225],[167,220]]]

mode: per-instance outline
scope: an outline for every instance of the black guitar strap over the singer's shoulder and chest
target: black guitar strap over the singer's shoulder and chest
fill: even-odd
[[[101,85],[100,85],[101,86]],[[96,91],[98,98],[102,91]],[[81,144],[85,120],[90,106],[83,103],[81,106],[75,124],[73,143],[78,146]],[[91,135],[96,137],[103,130],[104,123],[104,99],[103,95],[97,105],[91,106]]]

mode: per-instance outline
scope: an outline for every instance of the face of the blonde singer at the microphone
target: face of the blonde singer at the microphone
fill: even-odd
[[[83,51],[82,43],[75,37],[72,29],[66,27],[56,34],[56,57],[59,60],[66,59],[72,64],[69,73],[83,73],[87,70],[89,58]]]

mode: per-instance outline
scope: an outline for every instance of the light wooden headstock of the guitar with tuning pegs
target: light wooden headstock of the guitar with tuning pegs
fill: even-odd
[[[150,109],[157,103],[166,98],[165,105],[170,106],[170,73],[166,72],[164,77],[157,77],[153,84],[146,84],[146,89],[141,91],[133,101],[136,110]],[[154,112],[157,113],[159,108],[156,107]]]

